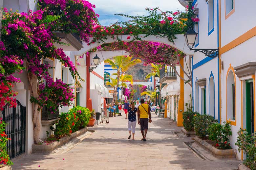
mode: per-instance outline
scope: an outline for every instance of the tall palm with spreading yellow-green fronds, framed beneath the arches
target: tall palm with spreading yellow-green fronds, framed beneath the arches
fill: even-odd
[[[106,59],[105,63],[109,63],[112,69],[117,69],[117,85],[119,85],[119,80],[121,76],[121,72],[128,70],[131,66],[134,66],[138,63],[141,63],[140,59],[132,60],[130,56],[116,56],[113,59]],[[117,97],[117,88],[114,88],[113,100],[111,104],[115,102]]]

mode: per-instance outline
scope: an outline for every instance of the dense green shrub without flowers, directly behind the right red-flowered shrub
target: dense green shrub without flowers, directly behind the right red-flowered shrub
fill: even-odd
[[[194,120],[194,130],[196,134],[202,138],[205,139],[207,133],[207,128],[213,124],[216,123],[218,120],[215,120],[213,116],[210,115],[195,115],[193,117]]]

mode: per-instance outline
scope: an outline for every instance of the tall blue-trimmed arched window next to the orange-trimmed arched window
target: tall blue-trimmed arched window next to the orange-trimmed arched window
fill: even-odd
[[[209,81],[209,115],[214,116],[215,112],[215,94],[214,94],[214,79],[210,77]]]

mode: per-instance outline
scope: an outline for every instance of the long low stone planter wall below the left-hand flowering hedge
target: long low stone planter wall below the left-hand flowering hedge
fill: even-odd
[[[74,133],[71,133],[70,136],[64,136],[63,138],[59,139],[59,141],[54,141],[53,143],[49,145],[32,145],[32,154],[49,154],[57,147],[69,142],[71,139],[83,134],[84,132],[88,131],[88,128],[85,127],[83,129],[80,129],[79,131],[75,131]]]

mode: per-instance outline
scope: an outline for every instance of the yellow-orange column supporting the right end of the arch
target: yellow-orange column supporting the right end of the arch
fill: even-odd
[[[183,67],[183,58],[180,60],[181,66]],[[184,72],[180,68],[180,75],[183,78]],[[183,126],[183,118],[182,113],[184,112],[184,81],[181,80],[181,91],[180,91],[180,99],[179,99],[179,106],[178,106],[178,118],[177,118],[177,126]]]

